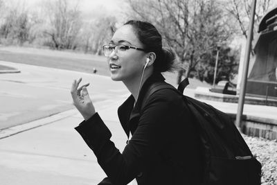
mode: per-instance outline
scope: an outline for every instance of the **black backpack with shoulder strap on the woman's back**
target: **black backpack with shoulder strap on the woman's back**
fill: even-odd
[[[204,152],[203,184],[260,184],[262,166],[253,157],[229,115],[211,105],[184,96],[183,92],[188,84],[187,78],[179,84],[178,89],[166,82],[155,82],[145,94],[142,107],[145,100],[160,89],[172,89],[181,94],[193,115]]]

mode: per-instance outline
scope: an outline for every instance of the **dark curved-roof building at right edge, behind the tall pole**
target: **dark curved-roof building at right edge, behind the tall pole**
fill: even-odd
[[[277,99],[277,7],[267,12],[262,18],[258,33],[254,45],[255,55],[249,62],[246,93],[247,96]],[[242,49],[238,73],[238,93],[244,62],[243,53]]]

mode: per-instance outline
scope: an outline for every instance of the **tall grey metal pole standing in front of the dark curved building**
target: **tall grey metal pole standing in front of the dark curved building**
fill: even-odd
[[[245,90],[247,85],[247,76],[248,76],[248,67],[249,67],[249,58],[250,58],[250,52],[251,52],[251,42],[253,38],[253,24],[254,24],[254,17],[255,17],[255,10],[256,10],[256,0],[252,1],[252,7],[251,7],[251,21],[250,26],[248,29],[248,37],[247,37],[247,48],[245,50],[244,55],[244,65],[243,65],[243,72],[242,72],[242,85],[240,87],[240,97],[238,100],[238,112],[237,116],[235,118],[235,125],[238,127],[240,131],[242,128],[242,112],[243,112],[243,105],[244,105],[244,96],[245,96]]]

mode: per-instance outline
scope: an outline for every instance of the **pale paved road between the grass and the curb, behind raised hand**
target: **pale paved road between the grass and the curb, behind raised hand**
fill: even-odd
[[[72,109],[70,87],[73,79],[80,77],[91,83],[88,89],[95,103],[107,101],[108,105],[115,96],[128,94],[122,82],[109,77],[12,62],[0,64],[21,71],[0,74],[0,130]]]

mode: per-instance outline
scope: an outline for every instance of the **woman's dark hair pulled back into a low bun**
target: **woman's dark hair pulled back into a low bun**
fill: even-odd
[[[171,49],[163,47],[161,34],[155,26],[146,21],[136,20],[127,21],[124,25],[132,26],[139,41],[143,44],[144,49],[156,54],[154,71],[161,73],[172,71],[175,68],[177,55]]]

